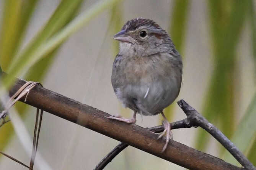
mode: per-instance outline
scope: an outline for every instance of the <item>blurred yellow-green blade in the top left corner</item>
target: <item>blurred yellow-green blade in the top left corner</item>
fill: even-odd
[[[6,0],[0,38],[0,63],[7,70],[20,48],[26,27],[38,0]]]

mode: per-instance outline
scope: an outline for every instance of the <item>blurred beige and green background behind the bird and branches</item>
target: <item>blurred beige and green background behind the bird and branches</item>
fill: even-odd
[[[130,19],[149,18],[170,34],[182,55],[177,100],[202,113],[256,165],[255,9],[254,0],[0,0],[0,66],[9,74],[4,82],[10,87],[13,77],[38,81],[109,114],[130,117],[111,85],[119,45],[112,36]],[[36,108],[17,103],[15,109],[32,139]],[[164,112],[170,122],[186,117],[176,102]],[[161,124],[160,115],[137,115],[137,120],[142,127]],[[30,155],[12,123],[0,128],[0,151],[28,165]],[[199,128],[172,132],[175,141],[239,165]],[[38,152],[54,170],[91,170],[119,143],[47,112],[40,133]],[[3,156],[0,168],[27,169]],[[40,169],[37,159],[34,169]],[[105,169],[185,168],[129,146]]]

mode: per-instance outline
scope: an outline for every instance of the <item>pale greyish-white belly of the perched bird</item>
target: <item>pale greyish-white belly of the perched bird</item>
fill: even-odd
[[[155,115],[169,106],[178,96],[179,87],[173,80],[127,84],[118,90],[124,106],[143,115]]]

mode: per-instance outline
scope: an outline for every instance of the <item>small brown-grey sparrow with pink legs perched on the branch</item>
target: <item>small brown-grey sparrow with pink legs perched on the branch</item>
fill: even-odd
[[[131,119],[108,117],[135,123],[136,114],[161,113],[166,133],[165,151],[172,139],[170,123],[163,109],[177,98],[181,87],[182,59],[165,30],[150,19],[132,19],[113,37],[120,41],[112,71],[117,98],[134,111]]]

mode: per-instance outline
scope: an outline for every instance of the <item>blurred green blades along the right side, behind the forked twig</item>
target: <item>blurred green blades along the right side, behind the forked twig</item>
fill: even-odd
[[[235,74],[237,45],[241,37],[241,30],[248,19],[252,28],[252,48],[255,57],[255,13],[253,10],[253,0],[230,1],[230,0],[209,0],[210,29],[212,32],[214,71],[210,79],[209,89],[205,96],[203,107],[204,116],[218,125],[220,130],[228,137],[232,138],[235,145],[242,152],[249,152],[249,160],[255,165],[254,140],[256,128],[246,125],[253,125],[256,119],[256,100],[253,99],[248,112],[244,115],[238,127],[235,129],[235,100],[240,103],[239,95],[234,91],[235,83],[240,77]],[[250,119],[251,118],[251,119]],[[250,131],[245,135],[245,132]],[[234,134],[235,132],[235,134]],[[250,135],[249,135],[250,134]],[[205,150],[209,144],[209,134],[200,130],[197,134],[196,148]],[[249,145],[250,144],[250,145]],[[220,147],[222,148],[222,147]],[[222,151],[223,148],[222,148]],[[225,151],[224,159],[228,162],[236,163],[232,156]]]

